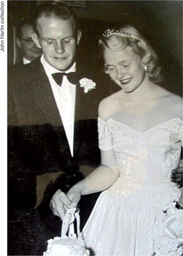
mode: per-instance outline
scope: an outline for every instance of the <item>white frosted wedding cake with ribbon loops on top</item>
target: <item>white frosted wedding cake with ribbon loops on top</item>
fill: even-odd
[[[61,237],[54,237],[48,240],[48,247],[44,256],[88,256],[90,251],[86,249],[84,240],[79,231],[79,214],[75,213],[75,208],[67,211],[63,223]],[[78,237],[74,233],[74,218],[76,217]],[[69,237],[66,236],[69,230]]]

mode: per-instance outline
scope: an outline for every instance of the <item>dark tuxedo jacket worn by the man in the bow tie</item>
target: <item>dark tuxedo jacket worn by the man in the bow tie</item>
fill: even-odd
[[[95,75],[91,76],[84,69],[77,67],[76,74],[72,157],[40,58],[8,71],[8,200],[11,200],[12,209],[34,207],[36,175],[69,170],[75,176],[73,168],[80,165],[97,167],[100,164],[97,109],[99,102],[112,91],[107,84],[101,88]],[[88,93],[79,86],[79,80],[84,77],[96,82],[96,88]],[[78,179],[81,179],[80,175]],[[72,182],[76,181],[75,177]],[[73,184],[65,185],[69,188]],[[60,188],[64,191],[62,186]]]

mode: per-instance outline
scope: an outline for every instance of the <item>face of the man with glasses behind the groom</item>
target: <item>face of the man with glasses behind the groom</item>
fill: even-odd
[[[17,39],[16,43],[23,50],[23,56],[27,60],[34,60],[42,53],[41,49],[36,46],[32,40],[33,28],[29,24],[22,27],[22,38]]]

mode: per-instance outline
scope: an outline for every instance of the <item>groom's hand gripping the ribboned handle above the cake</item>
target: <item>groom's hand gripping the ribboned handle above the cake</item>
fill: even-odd
[[[63,217],[66,214],[67,208],[71,207],[71,200],[66,196],[65,193],[58,189],[56,193],[54,193],[52,200],[50,201],[50,208],[54,215],[58,216],[63,220]]]

